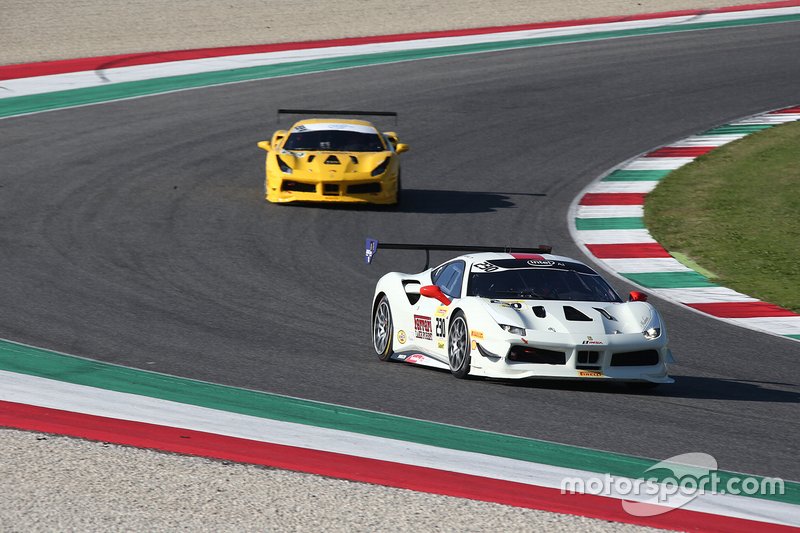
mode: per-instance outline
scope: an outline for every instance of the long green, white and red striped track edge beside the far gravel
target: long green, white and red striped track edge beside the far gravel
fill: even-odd
[[[342,68],[411,61],[458,54],[473,54],[515,48],[579,43],[597,39],[656,35],[682,31],[729,28],[756,24],[800,21],[800,1],[781,2],[773,7],[757,6],[749,11],[691,12],[682,16],[650,16],[595,24],[559,23],[546,29],[536,25],[524,30],[498,28],[422,34],[425,38],[347,39],[327,43],[295,43],[267,46],[266,51],[241,53],[242,48],[181,53],[179,61],[163,62],[163,56],[125,61],[104,58],[94,71],[74,71],[75,64],[55,66],[10,65],[0,67],[0,118],[92,105],[212,85],[240,83],[280,76],[323,72]],[[615,19],[616,20],[616,19]],[[343,44],[346,43],[346,44]],[[259,49],[256,47],[255,49]],[[224,55],[226,54],[228,55]],[[234,55],[229,55],[234,54]],[[186,58],[186,57],[189,58]],[[172,57],[167,54],[167,57]],[[58,63],[58,62],[57,62]],[[76,63],[85,67],[87,63]],[[59,65],[61,70],[59,70]],[[123,65],[123,66],[121,66]],[[48,74],[41,75],[41,73]],[[10,76],[15,76],[10,78]]]

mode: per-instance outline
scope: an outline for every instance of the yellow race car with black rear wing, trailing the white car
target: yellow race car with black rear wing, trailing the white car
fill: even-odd
[[[278,110],[283,113],[397,117],[393,112]],[[366,120],[301,120],[258,146],[267,152],[264,187],[269,202],[398,202],[399,155],[408,145]]]

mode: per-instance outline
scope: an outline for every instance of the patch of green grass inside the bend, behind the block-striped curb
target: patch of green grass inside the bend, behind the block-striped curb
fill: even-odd
[[[800,123],[749,135],[669,174],[645,224],[713,281],[800,312]]]

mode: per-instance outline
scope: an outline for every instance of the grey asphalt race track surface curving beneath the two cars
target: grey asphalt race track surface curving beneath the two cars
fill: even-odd
[[[391,241],[551,243],[595,176],[800,100],[800,24],[516,50],[250,82],[0,121],[0,337],[218,383],[800,479],[800,345],[654,303],[677,383],[459,381],[381,363],[370,299],[423,257]],[[275,206],[279,107],[387,109],[397,211]],[[281,126],[287,125],[286,122]],[[779,191],[776,191],[779,193]],[[435,256],[444,260],[447,256]],[[620,291],[630,290],[616,280]]]

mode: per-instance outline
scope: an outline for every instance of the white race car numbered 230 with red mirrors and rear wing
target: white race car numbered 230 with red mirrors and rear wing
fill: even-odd
[[[382,360],[448,369],[457,378],[673,383],[667,331],[646,295],[624,302],[584,263],[534,249],[389,244],[469,251],[419,274],[390,272],[375,287],[372,344]]]

